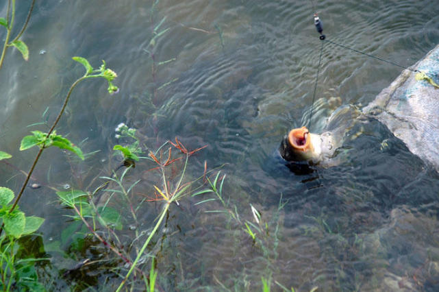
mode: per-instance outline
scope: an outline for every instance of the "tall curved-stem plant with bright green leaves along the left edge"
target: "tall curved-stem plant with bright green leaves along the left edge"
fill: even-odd
[[[12,0],[12,4],[12,16],[14,16],[14,0]],[[11,23],[12,22],[13,17]],[[10,29],[8,29],[8,36],[9,34]],[[8,38],[5,43],[7,42]],[[5,45],[5,47],[7,46]],[[4,53],[5,49],[3,49],[2,56],[4,56]],[[84,160],[84,154],[82,154],[81,149],[79,149],[79,147],[77,147],[75,144],[71,143],[71,141],[69,141],[67,138],[64,138],[63,136],[57,134],[55,131],[55,127],[60,121],[62,114],[64,113],[73,89],[75,88],[75,86],[77,86],[77,84],[79,84],[79,82],[83,80],[102,77],[108,82],[109,93],[115,93],[118,90],[117,86],[114,86],[114,84],[112,83],[117,75],[116,73],[114,73],[114,71],[105,67],[105,61],[103,61],[103,64],[99,67],[99,69],[93,69],[88,60],[86,60],[85,58],[73,57],[73,60],[81,63],[85,67],[86,73],[71,85],[64,99],[64,104],[62,105],[58,117],[56,117],[49,132],[45,133],[40,131],[32,131],[32,135],[25,136],[21,141],[21,151],[32,148],[34,146],[38,146],[39,148],[38,154],[36,154],[34,162],[32,163],[32,167],[29,169],[29,172],[27,172],[25,181],[21,186],[21,190],[18,192],[18,195],[15,196],[14,191],[12,191],[10,188],[0,186],[0,284],[2,284],[4,291],[10,291],[13,284],[22,286],[24,285],[23,287],[27,287],[28,289],[32,285],[38,285],[38,277],[36,276],[35,272],[33,273],[33,278],[26,277],[22,272],[24,270],[29,271],[29,269],[33,269],[34,263],[41,259],[17,258],[16,254],[18,250],[20,250],[19,245],[17,244],[17,240],[21,236],[33,234],[34,232],[36,232],[36,230],[40,228],[41,224],[44,221],[44,219],[40,217],[27,217],[25,213],[18,208],[18,202],[23,196],[25,188],[29,182],[29,179],[32,176],[32,173],[37,165],[38,160],[40,159],[42,152],[48,147],[55,146],[60,149],[72,151],[74,154],[79,156],[79,158]],[[3,61],[3,58],[1,59],[1,61]],[[0,151],[0,160],[8,158],[12,158],[12,156],[4,151]],[[12,201],[13,203],[10,204],[10,202]],[[5,232],[3,232],[3,230]]]

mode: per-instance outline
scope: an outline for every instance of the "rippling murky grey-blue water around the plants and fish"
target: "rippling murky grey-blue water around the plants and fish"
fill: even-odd
[[[23,23],[29,3],[17,4],[17,23]],[[51,283],[60,289],[80,282],[111,287],[108,273],[90,268],[82,276],[57,276],[96,252],[89,247],[82,254],[71,252],[69,260],[63,256],[74,240],[60,236],[70,226],[63,217],[68,211],[49,187],[70,184],[92,191],[93,179],[108,175],[119,162],[112,156],[118,143],[114,127],[125,122],[151,149],[175,136],[189,149],[208,145],[190,161],[189,177],[201,175],[205,161],[208,169],[223,166],[230,208],[236,206],[242,221],[254,222],[252,204],[268,224],[268,235],[262,232],[260,243],[253,243],[242,224],[223,213],[203,212],[219,204],[194,206],[201,198],[184,198],[181,208],[171,208],[164,242],[153,251],[161,289],[253,290],[260,289],[264,276],[271,277],[273,291],[279,284],[299,291],[436,290],[439,175],[384,125],[355,125],[351,132],[365,134],[344,145],[335,167],[296,175],[275,155],[281,137],[303,125],[312,102],[321,41],[311,2],[161,0],[151,22],[152,5],[37,1],[23,35],[29,61],[10,49],[0,71],[0,149],[25,171],[35,150],[18,151],[21,138],[48,129],[27,125],[53,121],[68,87],[83,74],[71,57],[88,58],[93,66],[105,60],[118,73],[117,95],[109,96],[103,81],[75,88],[58,127],[75,143],[84,141],[85,153],[99,152],[79,162],[48,149],[34,173],[43,187],[28,188],[21,201],[27,214],[46,218],[40,232],[52,260],[40,272],[42,281],[56,276]],[[1,16],[6,6],[0,3]],[[316,6],[327,38],[403,66],[439,42],[434,1],[318,1]],[[151,46],[153,27],[162,19],[159,31],[169,30]],[[397,66],[325,43],[313,131],[323,128],[337,106],[368,104],[399,73]],[[324,102],[331,97],[341,102]],[[136,194],[151,193],[158,183],[143,167],[127,178],[127,183],[142,180]],[[7,165],[0,173],[2,186],[17,190],[23,182]],[[159,207],[145,203],[141,228],[151,228]]]

